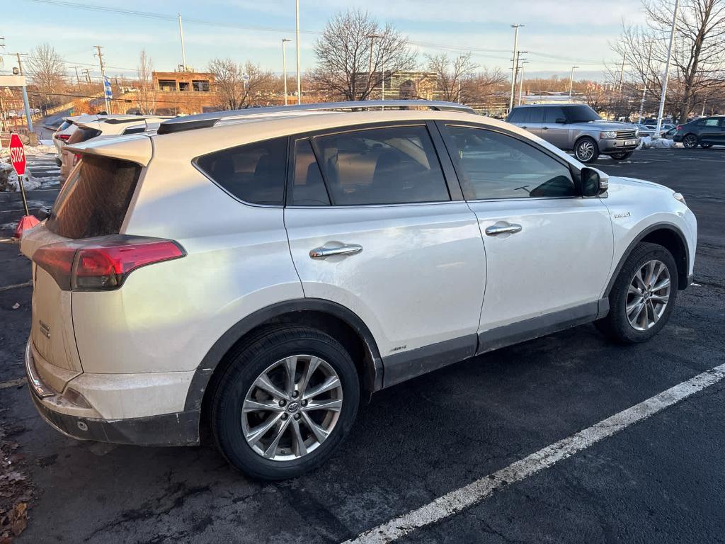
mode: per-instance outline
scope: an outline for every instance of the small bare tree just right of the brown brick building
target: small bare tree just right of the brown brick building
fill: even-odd
[[[242,66],[232,59],[213,59],[209,71],[214,74],[220,106],[226,110],[239,110],[249,105],[266,102],[276,81],[269,70],[262,70],[252,62]]]

